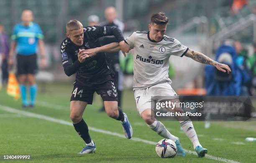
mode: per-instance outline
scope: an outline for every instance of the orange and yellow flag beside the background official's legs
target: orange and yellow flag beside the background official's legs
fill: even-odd
[[[18,100],[20,98],[20,86],[13,72],[9,72],[7,94],[13,96],[15,100]]]

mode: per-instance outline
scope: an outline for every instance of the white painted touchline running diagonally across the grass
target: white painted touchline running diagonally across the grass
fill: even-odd
[[[64,125],[68,125],[68,126],[73,126],[73,124],[68,122],[68,121],[64,121],[64,120],[61,120],[61,119],[55,119],[55,118],[52,118],[52,117],[49,117],[49,116],[44,116],[44,115],[41,115],[41,114],[35,114],[35,113],[28,112],[28,111],[21,111],[21,110],[18,110],[18,109],[11,108],[9,106],[0,105],[0,109],[3,110],[3,111],[10,112],[10,113],[21,114],[21,115],[25,115],[25,116],[29,116],[29,117],[33,117],[33,118],[37,118],[37,119],[43,119],[43,120],[46,120],[46,121],[51,121],[51,122],[64,124]],[[98,133],[105,133],[105,134],[108,134],[108,135],[118,136],[120,138],[125,138],[125,136],[123,134],[120,134],[120,133],[115,133],[115,132],[102,130],[102,129],[94,128],[94,127],[89,127],[89,129],[91,131],[95,131],[95,132],[98,132]],[[154,141],[148,141],[148,140],[144,140],[144,139],[141,139],[141,138],[134,138],[133,137],[133,138],[131,138],[131,140],[151,144],[151,145],[154,145],[154,146],[156,145],[156,142],[154,142]],[[185,150],[185,151],[187,153],[197,155],[197,153],[194,152],[194,151],[189,151],[189,150]],[[225,162],[225,163],[239,163],[237,161],[228,160],[226,158],[215,157],[215,156],[211,156],[211,155],[207,155],[207,154],[205,155],[205,158],[209,158],[209,159],[216,160],[216,161],[222,161],[222,162]]]

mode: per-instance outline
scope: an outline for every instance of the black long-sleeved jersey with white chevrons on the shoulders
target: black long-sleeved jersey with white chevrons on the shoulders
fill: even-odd
[[[100,84],[108,81],[105,76],[112,74],[111,66],[106,54],[101,52],[89,57],[80,63],[77,57],[79,49],[92,49],[100,47],[99,38],[103,36],[115,36],[118,42],[123,41],[122,32],[116,27],[92,26],[84,28],[84,40],[82,46],[77,46],[69,38],[61,43],[61,57],[64,72],[70,76],[77,72],[76,82],[79,85]]]

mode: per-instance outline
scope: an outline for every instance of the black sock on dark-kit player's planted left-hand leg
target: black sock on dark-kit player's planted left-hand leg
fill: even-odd
[[[84,119],[82,119],[80,122],[73,124],[75,130],[81,136],[81,138],[85,141],[85,143],[89,144],[91,143],[92,139],[89,134],[88,126],[84,122]]]

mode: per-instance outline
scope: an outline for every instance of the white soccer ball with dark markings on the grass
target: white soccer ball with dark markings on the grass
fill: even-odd
[[[164,138],[156,144],[156,154],[161,158],[173,158],[177,153],[176,143]]]

